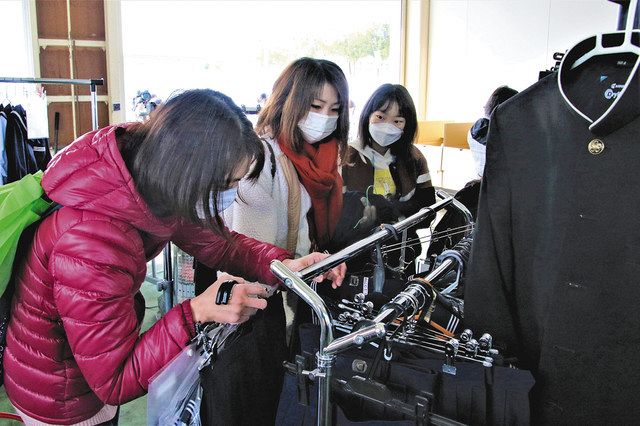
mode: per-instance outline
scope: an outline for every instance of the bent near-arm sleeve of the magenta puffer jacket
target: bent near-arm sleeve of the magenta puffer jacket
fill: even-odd
[[[194,332],[187,301],[139,336],[135,295],[145,276],[143,253],[133,228],[94,220],[65,231],[49,258],[69,346],[84,379],[107,404],[143,395]]]

